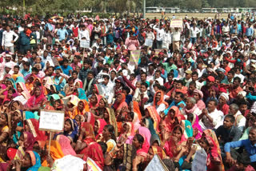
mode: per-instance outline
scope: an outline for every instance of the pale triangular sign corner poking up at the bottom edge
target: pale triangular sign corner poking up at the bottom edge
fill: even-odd
[[[158,157],[158,154],[155,154],[153,159],[150,161],[149,165],[146,166],[146,169],[144,171],[152,171],[152,170],[158,170],[158,171],[168,171],[169,169],[166,168],[166,165],[163,164],[160,157]]]

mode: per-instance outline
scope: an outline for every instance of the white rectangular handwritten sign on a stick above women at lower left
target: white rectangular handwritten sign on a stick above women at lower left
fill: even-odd
[[[63,131],[64,111],[41,110],[39,130]]]

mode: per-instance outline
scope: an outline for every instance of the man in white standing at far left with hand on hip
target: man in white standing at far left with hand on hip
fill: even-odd
[[[14,38],[15,37],[15,38]],[[6,30],[2,33],[2,46],[7,48],[14,54],[14,42],[18,40],[18,34],[10,30],[10,26],[6,26]]]

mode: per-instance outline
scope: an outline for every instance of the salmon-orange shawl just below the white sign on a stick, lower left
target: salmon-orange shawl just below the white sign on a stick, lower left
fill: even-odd
[[[74,149],[70,145],[70,139],[68,137],[64,135],[58,135],[56,140],[58,141],[59,145],[61,145],[62,153],[64,154],[64,156],[76,155],[76,153],[74,152]]]

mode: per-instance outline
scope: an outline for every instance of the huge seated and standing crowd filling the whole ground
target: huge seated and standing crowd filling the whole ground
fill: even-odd
[[[0,170],[191,170],[202,149],[206,170],[256,169],[254,16],[72,16],[0,18]],[[65,113],[51,140],[42,109]]]

